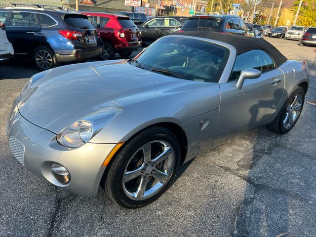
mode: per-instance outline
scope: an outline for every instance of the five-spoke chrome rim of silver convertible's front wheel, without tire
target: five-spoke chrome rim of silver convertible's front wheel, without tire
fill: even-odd
[[[133,200],[153,197],[167,184],[175,167],[172,146],[162,140],[146,143],[127,162],[122,185]]]

